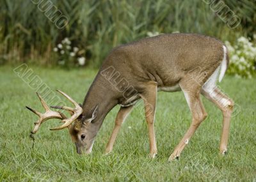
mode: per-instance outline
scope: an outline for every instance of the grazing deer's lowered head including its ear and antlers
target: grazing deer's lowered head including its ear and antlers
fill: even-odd
[[[93,119],[95,119],[97,116],[97,107],[95,107],[95,109],[93,110],[91,117],[84,118],[82,116],[83,109],[81,105],[79,105],[72,98],[70,98],[70,96],[63,93],[62,91],[58,91],[58,92],[61,93],[61,95],[65,96],[70,102],[72,102],[75,107],[72,108],[67,106],[51,106],[51,108],[67,110],[70,113],[70,118],[67,118],[65,114],[61,113],[60,111],[58,112],[52,111],[48,107],[47,103],[44,101],[42,96],[36,93],[38,98],[40,99],[40,102],[42,103],[42,106],[45,109],[45,112],[40,113],[26,106],[27,109],[31,110],[37,116],[39,116],[38,121],[34,123],[35,128],[31,133],[35,134],[38,131],[40,125],[45,121],[47,121],[48,119],[52,119],[52,118],[61,119],[61,123],[63,123],[63,125],[58,126],[56,128],[51,128],[50,130],[61,130],[64,128],[68,128],[68,131],[72,138],[72,142],[74,142],[74,144],[76,145],[77,153],[79,154],[83,152],[90,153],[92,151],[94,138],[97,133],[95,132],[95,130],[93,130],[91,126]],[[90,130],[88,130],[88,128],[90,128]]]

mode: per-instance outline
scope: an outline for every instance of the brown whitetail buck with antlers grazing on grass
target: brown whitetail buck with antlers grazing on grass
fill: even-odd
[[[115,105],[120,104],[115,127],[106,147],[106,153],[109,153],[113,149],[120,125],[136,101],[142,98],[145,110],[147,111],[148,106],[151,109],[145,113],[150,156],[154,158],[157,155],[154,132],[157,90],[182,90],[191,110],[192,123],[169,160],[179,158],[189,139],[207,116],[200,94],[213,102],[223,113],[220,153],[224,155],[227,152],[234,102],[218,89],[216,80],[223,79],[227,66],[228,53],[225,45],[215,38],[200,34],[163,34],[122,45],[114,49],[102,64],[84,98],[83,105],[77,104],[59,91],[74,103],[75,109],[65,106],[53,108],[68,110],[71,118],[67,119],[60,112],[51,111],[38,95],[46,112],[40,114],[28,108],[40,116],[32,133],[36,133],[40,124],[47,119],[62,119],[64,124],[51,130],[68,127],[77,153],[91,153],[104,118]]]

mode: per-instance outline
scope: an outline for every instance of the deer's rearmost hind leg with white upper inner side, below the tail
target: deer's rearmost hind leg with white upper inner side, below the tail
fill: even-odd
[[[220,153],[222,155],[225,155],[227,153],[230,118],[234,107],[234,102],[230,98],[228,98],[228,96],[223,94],[218,87],[213,87],[211,89],[207,89],[207,87],[205,87],[202,89],[202,95],[204,95],[205,98],[213,102],[223,114]]]

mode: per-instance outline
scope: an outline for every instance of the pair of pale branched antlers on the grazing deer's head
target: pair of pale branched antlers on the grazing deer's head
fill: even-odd
[[[64,123],[61,126],[58,126],[56,128],[51,128],[50,130],[61,130],[63,128],[67,128],[68,126],[70,126],[70,124],[75,121],[80,114],[82,114],[83,109],[78,105],[78,103],[76,103],[74,100],[72,100],[72,98],[70,98],[70,96],[66,95],[65,93],[60,92],[62,95],[64,95],[65,97],[68,98],[68,100],[70,100],[70,102],[72,102],[76,108],[73,109],[71,107],[54,107],[54,108],[60,108],[60,109],[65,109],[65,110],[69,110],[70,112],[73,113],[73,115],[71,116],[71,118],[67,118],[64,114],[62,114],[61,112],[55,112],[52,111],[48,105],[46,104],[46,102],[44,101],[44,99],[42,98],[42,96],[40,96],[38,93],[36,93],[36,95],[38,96],[38,98],[40,99],[40,102],[42,103],[42,106],[45,109],[45,113],[42,114],[34,109],[31,109],[30,107],[26,106],[27,109],[31,110],[32,112],[34,112],[37,116],[39,116],[38,121],[36,121],[35,124],[35,128],[34,130],[31,132],[33,134],[35,134],[38,131],[39,126],[44,123],[44,121],[46,121],[47,119],[52,119],[52,118],[56,118],[56,119],[61,119],[61,122]]]

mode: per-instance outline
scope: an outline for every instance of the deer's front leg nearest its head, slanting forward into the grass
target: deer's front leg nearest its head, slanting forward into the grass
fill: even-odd
[[[116,120],[115,120],[115,126],[113,129],[113,132],[111,134],[111,137],[109,138],[107,147],[106,147],[106,154],[110,153],[113,149],[117,133],[120,130],[120,127],[122,123],[124,123],[125,118],[127,118],[128,114],[131,112],[133,108],[133,105],[128,106],[128,107],[120,107],[120,110],[118,111],[118,114],[116,115]]]

